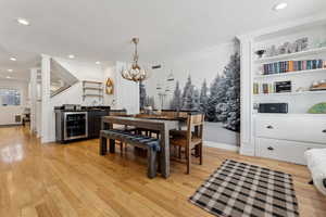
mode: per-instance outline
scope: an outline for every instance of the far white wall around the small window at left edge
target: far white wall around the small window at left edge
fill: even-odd
[[[0,88],[17,89],[21,91],[20,106],[0,105],[0,125],[21,124],[21,123],[15,123],[15,115],[23,114],[24,108],[28,106],[28,82],[12,80],[12,79],[0,79]]]

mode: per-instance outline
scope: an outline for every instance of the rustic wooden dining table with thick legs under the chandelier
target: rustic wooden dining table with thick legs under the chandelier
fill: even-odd
[[[121,117],[103,116],[102,129],[113,129],[113,125],[134,126],[160,132],[161,144],[161,174],[164,178],[170,176],[170,130],[178,129],[181,119],[174,117],[142,116],[142,117]]]

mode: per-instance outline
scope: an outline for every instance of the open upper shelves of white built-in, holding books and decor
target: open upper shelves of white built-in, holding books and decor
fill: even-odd
[[[319,39],[321,36],[324,38]],[[271,47],[278,49],[285,42],[308,38],[306,47],[285,54],[267,54]],[[306,114],[314,104],[326,102],[325,90],[312,91],[316,84],[326,82],[326,47],[313,42],[326,41],[326,23],[309,27],[296,27],[253,38],[251,54],[252,113],[260,103],[288,103],[288,113]],[[258,50],[265,50],[263,56]],[[279,90],[276,85],[287,84],[291,88]],[[290,85],[289,85],[290,84]],[[326,85],[326,84],[325,84]],[[277,114],[275,114],[277,115]]]

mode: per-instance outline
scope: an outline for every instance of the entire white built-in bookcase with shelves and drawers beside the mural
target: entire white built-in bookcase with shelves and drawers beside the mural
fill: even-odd
[[[308,149],[326,146],[326,114],[310,114],[326,102],[326,15],[239,39],[240,153],[304,164]]]

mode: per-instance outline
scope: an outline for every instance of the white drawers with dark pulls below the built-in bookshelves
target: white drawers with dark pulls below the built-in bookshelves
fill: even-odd
[[[304,152],[326,148],[324,115],[258,115],[255,155],[305,164]]]

